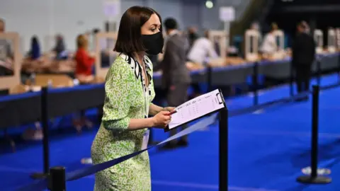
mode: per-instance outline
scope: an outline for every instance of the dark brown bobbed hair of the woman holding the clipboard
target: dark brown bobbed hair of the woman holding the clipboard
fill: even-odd
[[[157,14],[159,21],[162,18],[154,9],[145,6],[132,6],[123,14],[120,19],[117,41],[115,42],[115,52],[130,54],[132,52],[146,51],[143,46],[141,28],[152,14]],[[160,32],[163,34],[162,25]]]

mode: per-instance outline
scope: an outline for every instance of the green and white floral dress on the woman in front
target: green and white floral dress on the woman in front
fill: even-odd
[[[115,59],[106,75],[103,118],[91,146],[94,164],[119,158],[142,149],[147,129],[129,131],[130,119],[145,118],[154,98],[152,62],[144,57],[149,86],[142,77],[142,67],[125,54]],[[149,154],[144,152],[123,163],[96,173],[96,191],[151,190]]]

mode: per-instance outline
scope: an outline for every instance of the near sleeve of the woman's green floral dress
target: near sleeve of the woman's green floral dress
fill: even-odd
[[[130,124],[128,112],[132,99],[132,76],[123,59],[115,60],[108,71],[105,83],[106,98],[103,106],[103,127],[108,130],[125,131]]]

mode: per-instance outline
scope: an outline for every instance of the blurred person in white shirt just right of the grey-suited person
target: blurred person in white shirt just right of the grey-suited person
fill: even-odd
[[[188,53],[188,60],[196,64],[206,64],[209,58],[218,57],[214,45],[209,40],[209,33],[205,31],[204,37],[193,42],[193,47]]]

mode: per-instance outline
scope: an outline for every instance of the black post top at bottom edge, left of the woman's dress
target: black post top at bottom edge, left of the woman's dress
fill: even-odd
[[[66,175],[64,167],[57,166],[50,169],[48,189],[50,191],[66,190]]]

